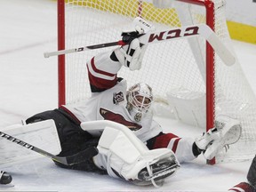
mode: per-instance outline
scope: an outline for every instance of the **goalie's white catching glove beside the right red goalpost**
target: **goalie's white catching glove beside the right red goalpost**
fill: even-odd
[[[208,160],[211,160],[223,148],[227,152],[229,145],[236,143],[242,132],[239,121],[228,116],[220,116],[215,126],[196,139],[196,146],[203,151],[204,157]]]

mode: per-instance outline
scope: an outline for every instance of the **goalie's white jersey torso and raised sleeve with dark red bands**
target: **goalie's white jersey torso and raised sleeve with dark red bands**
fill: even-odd
[[[119,61],[110,59],[111,53],[95,56],[87,63],[92,97],[61,108],[71,112],[80,122],[114,121],[124,124],[140,140],[149,140],[162,132],[162,128],[152,119],[150,111],[143,116],[140,123],[134,122],[126,108],[126,80],[116,76],[122,65]]]

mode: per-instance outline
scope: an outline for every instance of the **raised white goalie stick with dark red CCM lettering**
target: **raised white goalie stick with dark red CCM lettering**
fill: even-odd
[[[217,54],[220,56],[220,59],[223,60],[223,62],[227,66],[231,66],[235,64],[236,58],[234,57],[232,52],[230,52],[226,47],[226,45],[220,41],[220,38],[212,31],[212,28],[210,28],[205,24],[185,26],[181,28],[172,28],[170,30],[157,31],[157,32],[148,32],[146,34],[142,34],[139,37],[139,40],[140,40],[140,44],[155,44],[155,43],[161,43],[164,41],[172,41],[180,38],[188,38],[188,37],[194,37],[194,36],[204,37],[204,39],[209,44],[211,44],[213,50],[217,52]],[[112,43],[95,44],[90,46],[78,47],[74,49],[60,50],[57,52],[44,52],[44,57],[49,58],[51,56],[68,54],[72,52],[84,52],[88,50],[100,49],[104,47],[124,45],[124,44],[125,43],[122,40],[120,40]]]

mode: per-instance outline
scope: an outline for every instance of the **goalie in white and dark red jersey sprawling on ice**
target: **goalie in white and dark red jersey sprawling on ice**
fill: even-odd
[[[120,68],[140,69],[147,47],[141,46],[137,37],[144,32],[136,26],[134,31],[123,33],[126,45],[96,55],[87,63],[92,91],[89,100],[26,120],[27,124],[54,120],[61,146],[58,156],[71,156],[92,146],[99,150],[97,156],[84,156],[84,162],[56,163],[59,166],[108,173],[137,185],[160,186],[181,162],[191,161],[201,153],[211,159],[229,144],[227,132],[234,124],[225,124],[225,119],[196,140],[164,133],[150,111],[154,101],[150,86],[138,83],[127,89],[126,81],[117,77]]]

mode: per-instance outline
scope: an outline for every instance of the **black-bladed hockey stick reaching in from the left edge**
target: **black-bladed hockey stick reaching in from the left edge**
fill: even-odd
[[[11,135],[6,134],[4,132],[0,132],[0,136],[6,140],[12,141],[13,143],[19,144],[20,146],[22,146],[24,148],[33,150],[36,153],[39,153],[43,156],[50,157],[50,158],[52,158],[53,161],[59,162],[60,164],[66,164],[66,165],[78,164],[78,163],[84,162],[84,160],[85,160],[84,156],[86,156],[86,158],[89,158],[92,156],[96,156],[98,154],[98,149],[92,147],[92,148],[86,148],[85,150],[83,150],[79,153],[76,153],[73,156],[54,156],[51,153],[49,153],[41,148],[36,148],[36,146],[30,145],[27,142],[24,142],[22,140],[14,138]]]

